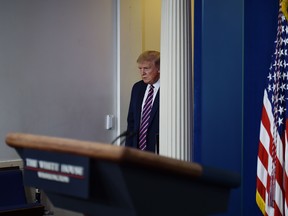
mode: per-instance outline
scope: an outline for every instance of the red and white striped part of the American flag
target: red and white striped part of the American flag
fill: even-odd
[[[284,190],[284,178],[287,179],[287,163],[284,164],[287,155],[284,152],[285,142],[287,141],[286,133],[284,137],[284,142],[280,138],[279,133],[276,133],[276,172],[275,176],[272,176],[272,145],[273,144],[273,122],[274,117],[272,114],[272,106],[267,96],[267,91],[264,92],[263,99],[263,110],[262,110],[262,120],[260,126],[260,141],[258,150],[258,162],[257,162],[257,191],[256,191],[256,201],[264,215],[288,215],[287,209],[287,197],[285,196]],[[284,151],[285,150],[285,151]],[[283,169],[285,168],[287,169]],[[284,177],[284,173],[285,177]],[[275,188],[274,193],[271,191],[271,181],[275,178]],[[286,181],[287,182],[287,181]],[[270,194],[272,193],[272,194]],[[269,203],[269,196],[273,196],[273,202]]]

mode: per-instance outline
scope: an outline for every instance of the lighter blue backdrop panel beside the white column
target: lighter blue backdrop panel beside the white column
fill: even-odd
[[[195,94],[198,95],[195,95],[194,158],[203,165],[240,174],[243,1],[196,1],[195,11],[198,22]],[[238,188],[231,194],[227,215],[240,214],[241,188]]]

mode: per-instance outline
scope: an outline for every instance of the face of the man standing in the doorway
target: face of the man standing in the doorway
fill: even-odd
[[[160,78],[160,70],[154,65],[153,62],[144,61],[138,63],[138,69],[142,80],[146,84],[154,84]]]

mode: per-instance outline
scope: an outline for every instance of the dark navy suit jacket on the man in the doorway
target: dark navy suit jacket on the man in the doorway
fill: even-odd
[[[133,136],[128,136],[126,140],[126,146],[137,148],[138,147],[138,138],[139,138],[139,129],[141,121],[141,108],[142,101],[144,98],[145,90],[147,84],[142,80],[135,83],[130,98],[130,106],[127,117],[127,131],[130,133],[135,133]],[[155,152],[155,145],[157,144],[157,139],[159,136],[159,95],[160,89],[157,92],[157,95],[154,99],[149,126],[147,130],[147,147],[146,151]]]

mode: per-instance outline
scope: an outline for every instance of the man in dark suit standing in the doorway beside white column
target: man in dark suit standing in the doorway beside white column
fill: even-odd
[[[137,64],[142,80],[134,84],[131,92],[126,146],[157,152],[160,53],[145,51],[138,57]]]

